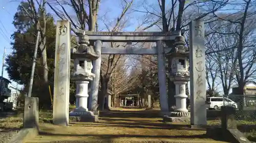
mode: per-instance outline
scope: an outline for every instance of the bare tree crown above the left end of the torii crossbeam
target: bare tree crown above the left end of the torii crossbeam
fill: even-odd
[[[47,4],[60,19],[69,20],[74,28],[88,31],[95,31],[97,28],[100,0],[52,0]],[[67,11],[70,7],[73,12]]]

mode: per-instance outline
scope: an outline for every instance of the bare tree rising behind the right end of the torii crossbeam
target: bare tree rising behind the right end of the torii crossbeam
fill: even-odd
[[[205,18],[207,22],[212,18],[213,13],[223,8],[228,1],[185,1],[172,0],[167,3],[162,1],[143,1],[144,10],[138,12],[145,13],[152,24],[148,26],[156,26],[163,32],[179,31],[182,28],[187,28],[190,20]],[[157,8],[158,7],[158,8]],[[166,43],[168,47],[174,47],[173,42]],[[170,60],[168,59],[168,64]],[[170,72],[171,69],[168,69]],[[187,86],[187,85],[186,85]],[[169,108],[175,108],[175,85],[168,79],[168,100]],[[188,87],[186,87],[188,93]]]

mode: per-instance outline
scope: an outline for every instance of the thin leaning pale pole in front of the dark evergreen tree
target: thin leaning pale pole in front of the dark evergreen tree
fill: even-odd
[[[36,55],[37,55],[39,38],[40,38],[40,31],[37,31],[37,38],[36,38],[36,43],[35,43],[35,51],[34,51],[33,65],[32,65],[31,76],[30,76],[28,97],[31,97],[31,93],[32,93],[33,80],[34,80],[34,72],[35,72],[35,63],[36,63]]]

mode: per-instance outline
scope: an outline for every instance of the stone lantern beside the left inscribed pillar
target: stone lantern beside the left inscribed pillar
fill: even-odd
[[[76,108],[70,112],[70,116],[90,118],[93,112],[88,111],[88,84],[95,77],[92,73],[92,61],[99,57],[99,53],[89,45],[89,38],[84,31],[79,30],[76,34],[79,36],[79,46],[73,48],[71,53],[75,68],[71,79],[76,83]]]

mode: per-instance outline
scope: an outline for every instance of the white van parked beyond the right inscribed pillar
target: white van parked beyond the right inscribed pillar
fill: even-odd
[[[224,102],[223,102],[224,99]],[[232,106],[234,108],[238,108],[238,105],[236,102],[228,99],[228,98],[223,98],[223,97],[207,97],[206,98],[206,104],[208,109],[220,109],[223,104],[225,106]]]

